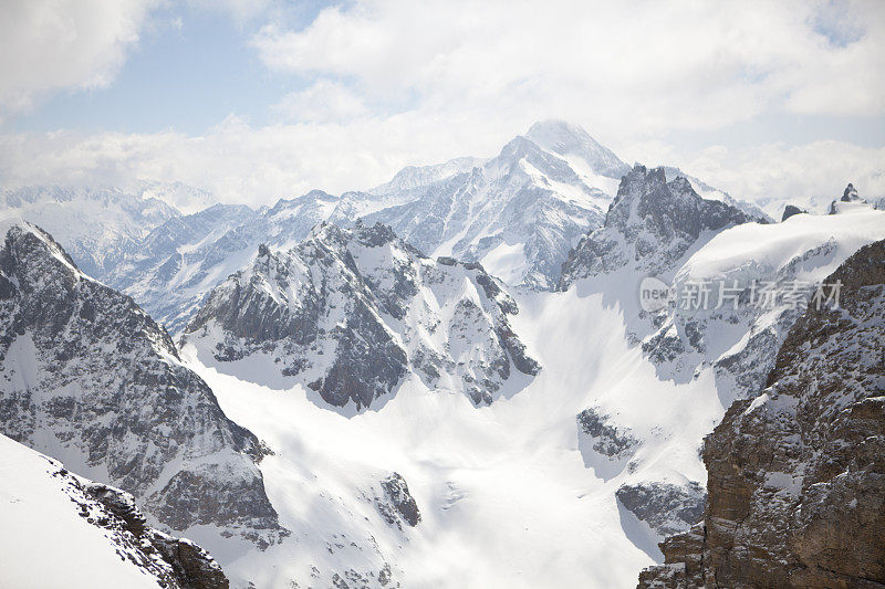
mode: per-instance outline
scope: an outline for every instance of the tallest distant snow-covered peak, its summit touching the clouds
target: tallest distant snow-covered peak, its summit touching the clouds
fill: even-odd
[[[510,285],[551,288],[577,240],[602,223],[629,168],[580,127],[533,125],[471,170],[409,189],[366,218],[430,255],[480,262]]]

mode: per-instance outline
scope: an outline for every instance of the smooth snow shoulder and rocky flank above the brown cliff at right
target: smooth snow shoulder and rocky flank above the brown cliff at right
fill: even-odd
[[[670,306],[644,348],[663,377],[693,378],[711,365],[723,402],[753,395],[773,367],[772,349],[804,311],[823,278],[862,245],[885,236],[885,212],[868,206],[832,215],[800,214],[779,224],[749,223],[720,233],[674,274],[677,290],[710,284],[709,309]],[[721,281],[721,282],[720,282]],[[757,302],[749,304],[756,281]],[[737,285],[741,303],[721,308],[719,290]],[[772,293],[764,301],[762,288]],[[825,291],[829,295],[830,291]],[[673,351],[679,350],[676,357]]]

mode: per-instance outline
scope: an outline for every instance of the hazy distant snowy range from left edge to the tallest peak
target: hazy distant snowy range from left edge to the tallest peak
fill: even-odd
[[[572,246],[602,223],[628,169],[580,127],[551,120],[491,159],[407,167],[368,191],[333,197],[313,190],[272,208],[215,204],[183,215],[158,199],[209,197],[149,182],[132,194],[18,190],[8,207],[46,225],[87,274],[133,296],[178,334],[207,293],[243,267],[260,243],[288,250],[321,221],[382,221],[425,254],[480,262],[510,285],[552,287]]]

